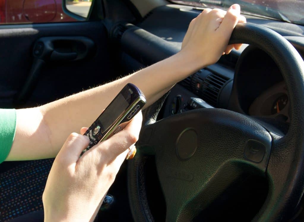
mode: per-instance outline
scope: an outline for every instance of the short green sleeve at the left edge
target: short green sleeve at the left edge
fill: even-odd
[[[16,110],[0,109],[0,163],[9,155],[16,132]]]

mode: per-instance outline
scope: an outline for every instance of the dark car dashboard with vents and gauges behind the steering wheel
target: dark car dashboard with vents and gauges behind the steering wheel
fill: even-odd
[[[185,5],[166,5],[151,11],[135,26],[117,25],[112,35],[121,42],[120,58],[127,72],[178,52],[188,24],[201,10]],[[304,55],[302,26],[246,17],[247,23],[264,25],[279,32]],[[136,31],[129,31],[130,27]],[[198,70],[175,85],[167,98],[163,117],[197,108],[224,108],[287,125],[289,122],[288,91],[282,74],[269,55],[252,45],[244,44],[239,51],[223,55],[216,64]]]

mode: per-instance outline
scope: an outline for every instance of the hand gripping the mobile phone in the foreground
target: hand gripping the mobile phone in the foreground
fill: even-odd
[[[43,192],[44,221],[92,221],[116,174],[137,141],[142,122],[138,113],[126,128],[93,146],[87,136],[72,133],[58,153]],[[81,129],[83,134],[87,128]]]

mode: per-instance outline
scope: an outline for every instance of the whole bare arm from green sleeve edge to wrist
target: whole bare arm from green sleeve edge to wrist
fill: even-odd
[[[176,82],[195,72],[197,65],[190,63],[190,58],[178,53],[114,82],[41,107],[18,110],[16,136],[7,160],[56,156],[67,136],[90,126],[127,83],[143,91],[147,107]]]

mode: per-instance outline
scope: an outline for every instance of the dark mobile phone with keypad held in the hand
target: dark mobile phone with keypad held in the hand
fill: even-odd
[[[85,132],[90,143],[82,150],[80,157],[92,146],[123,130],[145,104],[146,98],[140,89],[132,83],[126,84]]]

